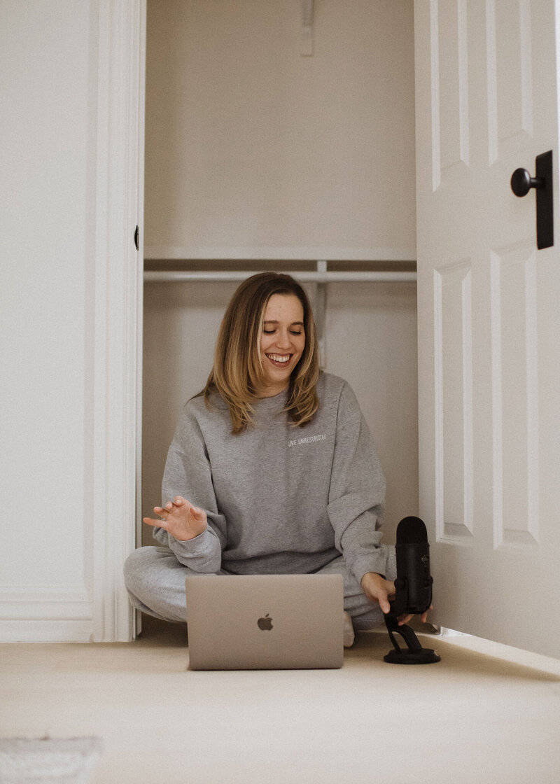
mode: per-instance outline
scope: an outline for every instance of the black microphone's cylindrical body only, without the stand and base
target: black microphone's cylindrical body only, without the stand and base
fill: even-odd
[[[405,517],[397,526],[397,579],[395,580],[396,615],[421,615],[431,605],[430,545],[420,517]]]

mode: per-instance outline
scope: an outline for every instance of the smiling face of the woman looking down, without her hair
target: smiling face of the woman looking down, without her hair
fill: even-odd
[[[273,294],[264,309],[260,336],[260,360],[266,379],[263,397],[272,397],[288,387],[304,347],[303,305],[295,294]]]

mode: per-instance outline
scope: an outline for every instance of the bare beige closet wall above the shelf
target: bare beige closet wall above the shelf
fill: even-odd
[[[416,258],[411,0],[150,0],[147,258]]]

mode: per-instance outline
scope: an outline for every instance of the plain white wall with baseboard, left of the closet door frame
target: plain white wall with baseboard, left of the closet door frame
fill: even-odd
[[[92,608],[96,29],[88,2],[3,0],[2,560],[7,637]]]

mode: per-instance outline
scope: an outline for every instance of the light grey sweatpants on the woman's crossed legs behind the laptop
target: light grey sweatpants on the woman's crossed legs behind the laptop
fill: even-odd
[[[166,621],[184,623],[187,615],[185,577],[196,574],[180,564],[168,547],[140,547],[125,561],[125,583],[133,606]],[[228,574],[220,570],[219,574]],[[356,630],[373,629],[384,622],[378,604],[373,604],[362,591],[355,576],[348,572],[344,558],[335,558],[319,569],[318,574],[339,574],[344,577],[344,610],[351,615]],[[395,547],[389,546],[388,580],[397,576]]]

